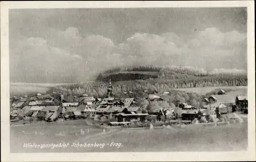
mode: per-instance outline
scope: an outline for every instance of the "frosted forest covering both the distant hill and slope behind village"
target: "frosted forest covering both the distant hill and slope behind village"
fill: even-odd
[[[107,74],[141,71],[159,72],[159,78],[145,80],[126,80],[113,82],[113,91],[117,94],[132,91],[132,96],[138,96],[139,92],[170,91],[173,88],[212,87],[212,86],[245,86],[247,74],[210,74],[207,72],[189,70],[186,68],[170,68],[158,66],[122,67],[101,73],[101,77]],[[98,77],[100,78],[100,77]],[[94,97],[103,97],[106,94],[109,83],[95,81],[89,83],[62,85],[51,88],[51,92],[62,92],[66,95],[88,94]],[[131,95],[131,94],[130,94]]]

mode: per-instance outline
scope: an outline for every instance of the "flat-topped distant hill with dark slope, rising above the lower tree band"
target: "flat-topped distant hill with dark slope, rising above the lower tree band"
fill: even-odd
[[[118,67],[100,73],[96,81],[127,81],[127,80],[146,80],[150,78],[160,78],[167,80],[176,79],[193,79],[198,77],[214,77],[214,76],[246,76],[244,71],[228,71],[214,70],[204,71],[194,67],[178,67],[178,66],[130,66]]]

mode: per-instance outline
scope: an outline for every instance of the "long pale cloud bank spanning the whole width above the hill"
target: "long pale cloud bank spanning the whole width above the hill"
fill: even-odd
[[[217,28],[183,37],[134,33],[115,44],[101,35],[81,36],[69,27],[50,29],[44,38],[18,36],[10,47],[11,80],[19,82],[83,82],[109,68],[130,65],[187,66],[213,73],[247,67],[246,35]]]

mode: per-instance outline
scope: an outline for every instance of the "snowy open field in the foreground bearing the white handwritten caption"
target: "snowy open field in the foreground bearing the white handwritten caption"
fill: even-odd
[[[11,126],[11,152],[238,151],[247,148],[247,118],[230,124],[153,129],[100,128],[84,120]]]

